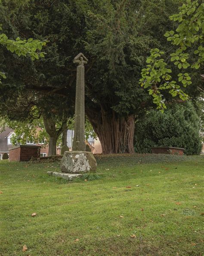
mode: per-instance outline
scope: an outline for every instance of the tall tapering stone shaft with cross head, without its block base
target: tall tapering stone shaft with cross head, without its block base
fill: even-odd
[[[74,58],[74,63],[77,66],[77,86],[76,86],[76,101],[75,101],[75,122],[74,122],[74,140],[73,150],[86,151],[84,141],[85,130],[85,110],[84,110],[84,64],[87,64],[88,59],[82,54],[78,54]]]

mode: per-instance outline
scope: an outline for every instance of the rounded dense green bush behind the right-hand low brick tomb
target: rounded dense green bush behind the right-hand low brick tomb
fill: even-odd
[[[183,147],[187,155],[201,153],[199,118],[191,102],[167,107],[162,114],[151,110],[135,128],[135,151],[151,153],[151,147]]]

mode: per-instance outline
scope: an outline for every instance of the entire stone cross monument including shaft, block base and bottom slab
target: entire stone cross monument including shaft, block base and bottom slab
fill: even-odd
[[[68,180],[82,176],[83,173],[95,172],[97,166],[93,153],[86,151],[84,138],[84,64],[87,64],[87,61],[87,58],[82,53],[74,58],[74,63],[77,64],[77,86],[73,151],[64,152],[61,160],[62,173],[48,172],[49,175],[62,177],[63,179]]]

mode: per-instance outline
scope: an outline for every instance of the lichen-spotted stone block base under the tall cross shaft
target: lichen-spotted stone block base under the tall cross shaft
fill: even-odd
[[[94,172],[96,166],[95,157],[87,151],[66,151],[61,159],[62,173]]]

